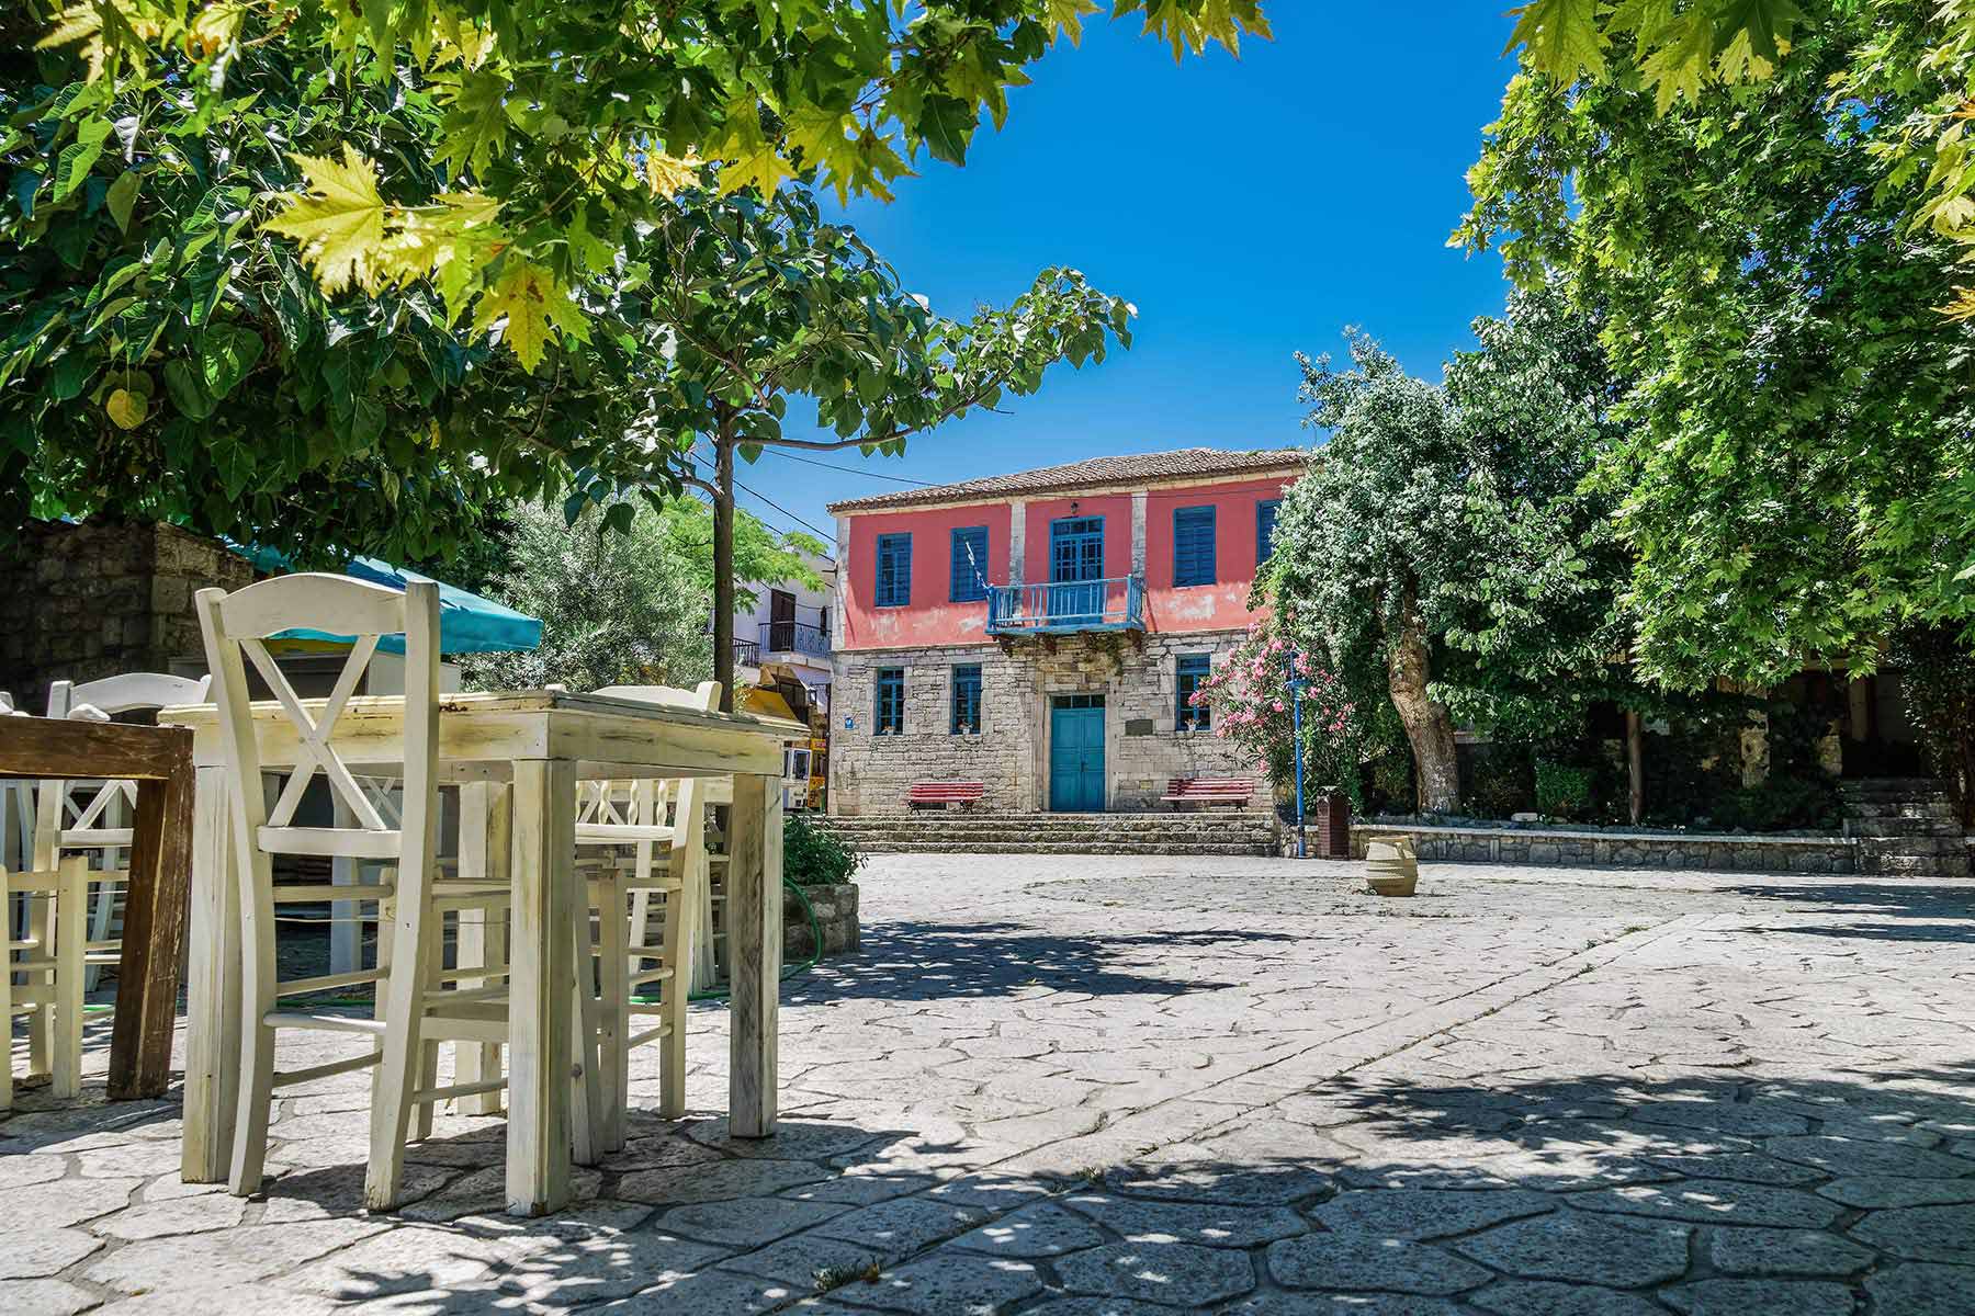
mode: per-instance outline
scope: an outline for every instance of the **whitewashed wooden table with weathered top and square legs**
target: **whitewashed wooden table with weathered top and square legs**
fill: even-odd
[[[322,700],[306,700],[320,712]],[[255,704],[261,762],[298,760],[294,724]],[[194,732],[192,935],[186,1004],[182,1176],[227,1178],[239,1089],[239,888],[225,819],[225,756],[211,706],[166,708]],[[440,700],[438,760],[448,781],[510,781],[508,1209],[539,1215],[569,1202],[575,951],[585,915],[575,880],[577,781],[733,775],[727,919],[733,959],[729,1123],[762,1138],[776,1119],[776,992],[782,975],[782,742],[794,722],[695,712],[602,695],[519,691]],[[403,700],[354,698],[332,744],[354,769],[395,769]]]

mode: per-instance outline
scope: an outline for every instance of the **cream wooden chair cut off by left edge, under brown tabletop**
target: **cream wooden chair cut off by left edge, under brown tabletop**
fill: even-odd
[[[83,1091],[83,943],[87,937],[89,860],[71,854],[47,870],[0,868],[0,908],[16,898],[36,912],[28,935],[0,929],[0,1020],[6,1063],[0,1065],[0,1111],[14,1109],[14,1018],[28,1018],[28,1073],[49,1075],[53,1095],[69,1101]],[[16,953],[20,955],[16,959]],[[16,985],[14,975],[26,977]]]

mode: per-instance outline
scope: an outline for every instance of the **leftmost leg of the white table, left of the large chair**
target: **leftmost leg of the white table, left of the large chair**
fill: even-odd
[[[192,813],[192,945],[186,951],[186,1138],[180,1178],[223,1184],[239,1103],[239,884],[227,769],[201,768]],[[126,933],[128,945],[128,933]]]

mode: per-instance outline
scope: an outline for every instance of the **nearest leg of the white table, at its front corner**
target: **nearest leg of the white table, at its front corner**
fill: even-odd
[[[543,1215],[569,1202],[575,850],[575,764],[515,762],[508,915],[508,1211],[514,1215]]]

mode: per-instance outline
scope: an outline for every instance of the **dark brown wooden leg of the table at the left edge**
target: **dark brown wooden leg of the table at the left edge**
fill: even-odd
[[[162,1097],[172,1079],[178,955],[192,900],[192,813],[190,756],[182,771],[138,781],[111,1028],[111,1101]]]

